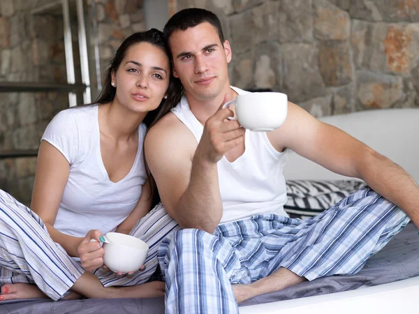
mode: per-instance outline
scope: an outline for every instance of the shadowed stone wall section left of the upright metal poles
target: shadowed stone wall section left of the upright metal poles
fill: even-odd
[[[2,0],[0,3],[0,80],[66,82],[62,20],[32,15],[49,1]],[[0,150],[38,149],[54,114],[68,107],[57,93],[1,93]],[[28,204],[36,158],[0,159],[0,188]]]

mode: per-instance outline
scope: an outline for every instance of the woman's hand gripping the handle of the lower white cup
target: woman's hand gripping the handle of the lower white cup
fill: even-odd
[[[94,271],[103,266],[105,251],[101,247],[99,239],[101,236],[102,232],[100,230],[90,230],[77,248],[82,267],[87,271]],[[96,241],[91,241],[91,239]]]

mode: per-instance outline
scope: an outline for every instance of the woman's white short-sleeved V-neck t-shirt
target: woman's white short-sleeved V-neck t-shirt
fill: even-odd
[[[101,156],[98,105],[63,110],[47,126],[42,140],[56,147],[70,164],[70,175],[54,227],[84,237],[91,229],[115,231],[133,211],[147,179],[143,143],[147,127],[138,127],[138,151],[124,179],[110,181]]]

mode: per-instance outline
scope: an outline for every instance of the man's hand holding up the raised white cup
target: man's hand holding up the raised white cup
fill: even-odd
[[[203,136],[196,149],[196,156],[209,163],[217,163],[228,150],[244,142],[244,128],[237,120],[228,120],[228,117],[233,117],[233,111],[222,107],[205,122]]]

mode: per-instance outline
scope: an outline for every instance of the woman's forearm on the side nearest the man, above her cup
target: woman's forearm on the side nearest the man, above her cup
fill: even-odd
[[[154,180],[152,177],[145,181],[145,184],[142,185],[140,199],[135,205],[133,211],[131,211],[131,214],[129,214],[129,216],[126,217],[126,219],[117,227],[116,232],[128,234],[131,232],[138,220],[147,215],[150,211],[150,207],[152,206],[152,190],[154,190],[154,188],[152,188],[153,185]]]

